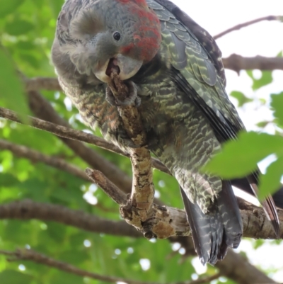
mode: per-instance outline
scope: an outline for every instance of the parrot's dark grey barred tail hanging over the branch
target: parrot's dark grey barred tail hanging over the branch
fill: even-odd
[[[214,265],[224,258],[228,246],[236,248],[241,242],[243,223],[231,183],[222,181],[222,191],[206,214],[190,202],[183,188],[180,191],[200,261]]]

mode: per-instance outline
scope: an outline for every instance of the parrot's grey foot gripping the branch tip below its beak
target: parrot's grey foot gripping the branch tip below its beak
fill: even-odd
[[[106,96],[105,99],[110,103],[112,106],[135,106],[138,108],[141,105],[141,98],[137,95],[137,87],[132,81],[124,82],[124,84],[128,87],[127,97],[123,98],[122,100],[116,98],[110,86],[106,88]]]

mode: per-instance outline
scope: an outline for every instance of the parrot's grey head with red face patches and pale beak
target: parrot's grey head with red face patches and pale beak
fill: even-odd
[[[161,27],[145,0],[92,0],[74,14],[63,8],[57,38],[79,73],[108,83],[113,71],[126,80],[154,58]]]

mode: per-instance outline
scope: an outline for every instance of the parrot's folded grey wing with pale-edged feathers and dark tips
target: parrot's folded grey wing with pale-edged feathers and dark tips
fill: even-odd
[[[212,36],[168,0],[147,0],[161,21],[170,54],[172,79],[202,110],[224,142],[245,129],[224,89],[221,52]]]

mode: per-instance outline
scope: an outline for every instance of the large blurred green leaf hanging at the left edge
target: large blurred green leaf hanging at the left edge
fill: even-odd
[[[1,101],[7,108],[15,110],[22,119],[26,120],[28,114],[28,103],[23,95],[23,84],[16,75],[13,63],[0,49],[0,94]]]

